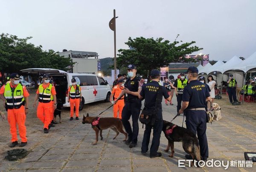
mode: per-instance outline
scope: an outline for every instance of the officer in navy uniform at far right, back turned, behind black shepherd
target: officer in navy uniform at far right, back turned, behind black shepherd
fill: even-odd
[[[200,153],[202,160],[207,161],[208,143],[206,137],[207,114],[205,102],[210,101],[209,90],[205,84],[197,80],[198,69],[189,67],[187,71],[189,85],[183,89],[182,107],[179,113],[186,110],[186,128],[198,135]],[[190,155],[185,155],[186,159],[192,159]]]

